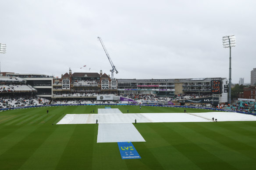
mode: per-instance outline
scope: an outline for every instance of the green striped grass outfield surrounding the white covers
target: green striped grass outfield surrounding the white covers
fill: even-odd
[[[110,106],[123,113],[183,108]],[[142,159],[122,160],[116,142],[97,143],[98,125],[56,125],[65,114],[104,106],[59,106],[0,112],[0,170],[248,169],[256,167],[256,122],[137,123]],[[46,110],[49,114],[46,114]],[[186,108],[187,112],[209,110]],[[53,125],[52,125],[53,124]]]

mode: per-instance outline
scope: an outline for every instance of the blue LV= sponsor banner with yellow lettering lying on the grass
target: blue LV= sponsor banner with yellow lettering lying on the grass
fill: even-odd
[[[121,154],[121,158],[124,159],[141,159],[139,153],[136,151],[132,142],[117,142],[118,148]]]

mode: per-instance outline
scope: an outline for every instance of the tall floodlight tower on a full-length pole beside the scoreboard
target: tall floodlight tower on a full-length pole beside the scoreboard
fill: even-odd
[[[235,47],[235,35],[222,37],[223,47],[229,48],[228,103],[231,104],[231,47]]]

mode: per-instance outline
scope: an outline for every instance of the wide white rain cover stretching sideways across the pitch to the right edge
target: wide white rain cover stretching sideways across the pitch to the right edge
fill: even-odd
[[[57,124],[96,123],[153,123],[153,122],[210,122],[218,121],[256,121],[256,116],[235,112],[206,113],[129,113],[129,114],[66,114]]]

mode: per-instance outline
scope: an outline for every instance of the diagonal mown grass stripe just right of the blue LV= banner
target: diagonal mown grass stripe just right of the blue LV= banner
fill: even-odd
[[[152,123],[136,124],[135,127],[146,140],[146,142],[132,142],[142,159],[151,161],[147,153],[144,152],[144,150],[149,149],[164,169],[180,169],[181,162],[184,169],[200,169],[182,152],[173,147],[172,142],[165,140],[158,134],[157,129],[161,130],[163,128],[162,123],[154,123],[154,126],[152,126]],[[164,131],[167,131],[167,129],[164,129]],[[168,133],[167,136],[171,137],[171,133]]]

